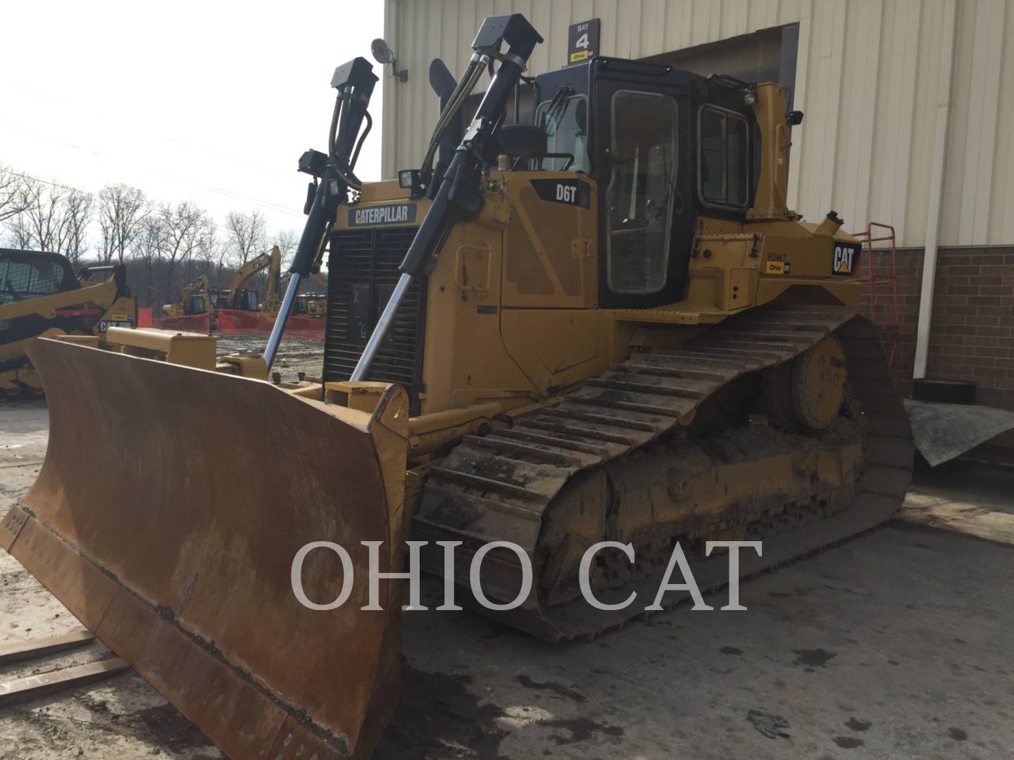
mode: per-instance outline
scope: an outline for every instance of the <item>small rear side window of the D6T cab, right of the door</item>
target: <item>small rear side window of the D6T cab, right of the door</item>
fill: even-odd
[[[701,200],[708,206],[744,209],[749,203],[746,120],[738,113],[705,105],[698,132],[701,140]]]

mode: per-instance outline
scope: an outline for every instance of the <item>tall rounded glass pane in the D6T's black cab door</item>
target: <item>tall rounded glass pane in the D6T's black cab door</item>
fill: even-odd
[[[668,272],[676,171],[676,101],[612,95],[606,272],[613,293],[657,293]]]

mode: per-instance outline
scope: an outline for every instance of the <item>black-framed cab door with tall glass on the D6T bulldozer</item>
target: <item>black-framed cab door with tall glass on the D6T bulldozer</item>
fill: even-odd
[[[666,67],[593,67],[599,305],[683,298],[694,234],[690,90]]]

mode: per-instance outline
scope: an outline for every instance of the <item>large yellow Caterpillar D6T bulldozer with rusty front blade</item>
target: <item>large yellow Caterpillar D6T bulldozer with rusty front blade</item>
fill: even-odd
[[[458,80],[435,62],[440,117],[397,181],[356,176],[377,77],[336,70],[264,353],[327,248],[320,382],[28,349],[50,446],[0,545],[229,757],[370,756],[399,701],[406,564],[587,639],[645,614],[612,602],[650,599],[676,547],[712,590],[730,555],[706,541],[760,541],[751,576],[904,497],[911,429],[859,313],[859,242],[787,207],[786,88],[604,56],[525,74],[541,42],[491,16]],[[82,454],[85,434],[103,445]],[[583,562],[603,541],[637,561]]]

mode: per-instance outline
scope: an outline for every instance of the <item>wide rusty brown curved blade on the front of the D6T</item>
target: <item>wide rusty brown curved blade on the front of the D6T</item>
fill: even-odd
[[[367,605],[368,552],[401,569],[408,401],[372,413],[266,382],[40,339],[39,479],[0,546],[229,757],[368,757],[399,698],[401,595]],[[296,599],[308,542],[348,550],[351,597]],[[314,549],[316,604],[343,588]]]

